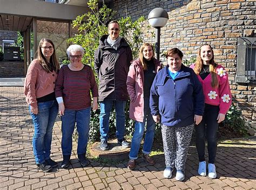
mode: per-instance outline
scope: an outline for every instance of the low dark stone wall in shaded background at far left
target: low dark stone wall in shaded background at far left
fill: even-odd
[[[23,61],[0,61],[0,78],[20,77],[25,77]]]

